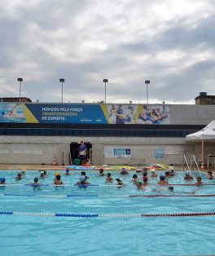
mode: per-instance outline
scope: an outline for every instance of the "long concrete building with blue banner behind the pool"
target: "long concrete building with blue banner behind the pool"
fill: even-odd
[[[214,119],[215,105],[0,104],[0,163],[68,165],[81,140],[94,165],[182,164],[199,154],[186,135]],[[213,152],[208,143],[207,152]],[[132,161],[130,161],[132,159]]]

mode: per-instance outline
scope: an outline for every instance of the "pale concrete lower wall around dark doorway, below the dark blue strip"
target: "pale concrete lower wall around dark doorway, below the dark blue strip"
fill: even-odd
[[[71,141],[86,140],[92,143],[92,163],[94,165],[121,165],[124,158],[105,158],[104,148],[130,148],[130,162],[137,165],[143,158],[147,163],[182,164],[182,155],[186,153],[184,138],[115,138],[115,137],[31,137],[31,136],[0,136],[0,163],[2,164],[51,164],[54,155],[59,161],[69,164],[68,154]],[[162,148],[164,158],[155,158],[155,150]],[[188,146],[190,151],[195,151],[195,144]]]

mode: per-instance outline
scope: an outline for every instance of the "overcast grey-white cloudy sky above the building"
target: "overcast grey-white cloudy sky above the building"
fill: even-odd
[[[0,97],[194,104],[215,95],[214,0],[1,0]]]

